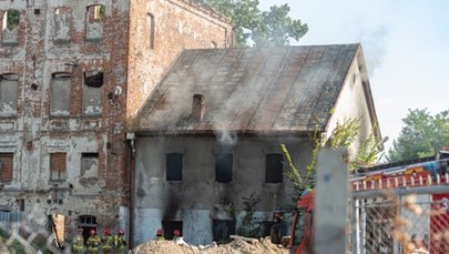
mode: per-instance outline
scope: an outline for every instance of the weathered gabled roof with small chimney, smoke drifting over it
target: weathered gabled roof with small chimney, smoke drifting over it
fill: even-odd
[[[359,47],[185,50],[140,110],[135,131],[323,131]],[[191,116],[194,94],[204,95],[202,121]]]

